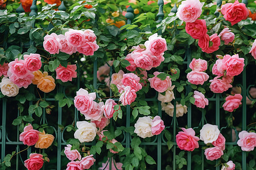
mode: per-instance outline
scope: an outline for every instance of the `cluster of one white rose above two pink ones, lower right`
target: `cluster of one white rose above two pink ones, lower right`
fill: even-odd
[[[221,158],[225,150],[226,139],[220,133],[217,125],[205,124],[200,130],[200,139],[205,144],[212,143],[214,147],[206,148],[204,155],[208,160],[216,160]]]

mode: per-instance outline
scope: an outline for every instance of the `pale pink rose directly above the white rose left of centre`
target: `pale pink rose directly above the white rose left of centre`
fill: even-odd
[[[103,102],[96,103],[92,101],[92,108],[87,112],[81,112],[84,114],[86,120],[96,120],[100,121],[103,116],[102,106],[104,105]]]

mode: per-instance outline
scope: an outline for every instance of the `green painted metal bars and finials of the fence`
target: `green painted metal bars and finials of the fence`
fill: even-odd
[[[35,5],[35,0],[33,1],[33,4]],[[243,3],[245,3],[247,1],[243,1]],[[64,2],[61,3],[61,5],[64,5]],[[158,1],[158,5],[159,5],[159,13],[158,13],[158,22],[161,22],[163,19],[163,0],[159,0]],[[217,0],[217,6],[221,5],[221,1]],[[21,8],[20,8],[21,7]],[[20,9],[17,9],[17,12],[22,12],[23,8],[20,5]],[[65,6],[64,6],[65,7]],[[65,10],[64,7],[60,6],[60,10]],[[36,15],[36,6],[31,6],[31,13],[30,16],[32,15]],[[177,7],[176,4],[175,6],[172,8],[172,12],[176,12],[177,11]],[[131,8],[131,6],[129,8],[127,8],[127,14],[126,14],[126,18],[127,18],[127,24],[131,24],[131,21],[134,18],[133,15],[133,8]],[[159,35],[161,35],[162,32],[159,32]],[[175,36],[175,35],[174,35]],[[5,47],[7,47],[7,44],[5,44]],[[187,65],[187,67],[189,67],[189,63],[191,62],[191,49],[189,46],[185,47],[186,49],[186,53],[185,53],[185,61],[184,61],[184,65]],[[80,59],[77,56],[77,90],[79,90],[80,88],[80,76],[82,75],[82,73],[80,73]],[[113,68],[110,67],[110,78],[111,75],[113,73]],[[110,79],[111,80],[111,79]],[[94,61],[94,67],[93,67],[93,87],[97,88],[97,60]],[[242,130],[246,130],[246,96],[249,96],[248,94],[248,90],[249,87],[246,88],[246,68],[244,69],[243,73],[242,73],[242,96],[243,96],[243,100],[242,100]],[[57,91],[60,93],[65,94],[65,89],[63,88],[63,86],[59,86],[57,88]],[[191,92],[192,89],[190,86],[187,87],[187,94],[189,92]],[[176,95],[176,92],[175,92]],[[112,91],[110,90],[110,96],[112,96]],[[49,102],[54,102],[55,99],[54,98],[47,98],[46,94],[44,94],[44,98],[46,99],[46,101]],[[145,99],[146,101],[158,101],[157,97],[154,97],[153,99]],[[172,118],[172,122],[171,122],[171,127],[166,127],[167,129],[172,130],[172,142],[174,143],[174,147],[172,149],[172,155],[173,155],[173,164],[172,164],[172,169],[177,169],[176,167],[176,158],[175,156],[177,155],[177,145],[176,145],[176,141],[175,141],[175,136],[177,134],[177,131],[179,131],[179,124],[177,122],[177,118],[176,118],[176,101],[179,101],[180,99],[174,99],[174,117]],[[209,98],[209,101],[215,102],[215,108],[216,108],[216,114],[215,114],[215,118],[216,118],[216,125],[218,125],[218,127],[220,128],[220,103],[221,101],[224,99],[221,99],[221,95],[220,94],[216,94],[215,96]],[[17,135],[16,135],[16,140],[15,141],[10,141],[7,138],[7,132],[6,132],[6,128],[8,127],[6,125],[6,113],[7,113],[7,100],[6,99],[2,99],[1,101],[1,105],[2,105],[2,124],[0,125],[0,145],[1,145],[1,160],[3,160],[3,158],[5,158],[5,155],[8,154],[6,153],[6,146],[14,146],[16,148],[16,151],[20,151],[20,147],[23,146],[23,143],[19,141],[19,127],[17,128]],[[32,105],[32,101],[29,102],[28,105]],[[75,124],[75,122],[79,121],[79,112],[77,111],[76,108],[72,108],[75,110],[75,117],[73,120],[73,123]],[[19,115],[19,112],[17,112]],[[64,113],[64,108],[57,108],[57,124],[63,124],[63,113]],[[126,119],[126,127],[130,127],[130,114],[131,114],[131,108],[129,106],[126,107],[126,117],[123,116],[124,119]],[[205,123],[207,123],[207,120],[205,118],[205,109],[202,109],[201,112],[201,121],[200,121],[200,125],[196,128],[201,128],[201,126],[203,126]],[[158,115],[160,117],[162,117],[162,107],[160,102],[158,101]],[[192,107],[191,105],[188,106],[188,113],[187,113],[187,127],[191,128],[192,127],[192,116],[193,116],[193,112],[192,112]],[[43,117],[41,120],[42,124],[47,122],[47,115],[46,115],[46,110],[43,109]],[[66,141],[64,139],[64,133],[65,130],[63,131],[60,128],[53,128],[55,130],[56,133],[56,142],[57,142],[57,165],[56,168],[59,170],[61,169],[61,150],[63,150],[63,147],[66,145]],[[236,131],[236,130],[235,130]],[[237,131],[236,131],[236,135]],[[131,136],[129,133],[125,133],[125,140],[122,142],[122,144],[125,147],[130,147],[130,142],[131,142]],[[232,138],[232,136],[231,136]],[[92,146],[95,145],[95,141],[91,142],[91,143],[86,143],[86,145]],[[162,150],[164,149],[163,147],[166,147],[167,143],[164,141],[164,137],[163,134],[158,135],[155,138],[155,141],[153,142],[143,142],[141,144],[142,146],[157,146],[157,169],[164,169],[164,167],[162,167]],[[200,144],[201,145],[201,144]],[[237,145],[236,142],[226,142],[226,145]],[[31,148],[29,148],[27,150],[27,156],[29,156],[29,154],[32,152]],[[170,151],[171,152],[171,151]],[[15,169],[19,169],[19,163],[20,160],[21,162],[23,162],[23,160],[21,159],[21,157],[19,158],[18,156],[16,157],[16,165],[15,165]],[[112,158],[109,159],[109,165],[110,165],[110,169],[112,166]],[[201,169],[205,169],[204,165],[204,161],[205,161],[205,156],[204,156],[204,151],[201,151]],[[47,168],[45,168],[47,169]],[[192,152],[187,152],[187,169],[191,170],[193,169],[192,167]],[[216,167],[216,169],[220,169],[220,167]],[[242,152],[242,169],[246,169],[246,152]]]

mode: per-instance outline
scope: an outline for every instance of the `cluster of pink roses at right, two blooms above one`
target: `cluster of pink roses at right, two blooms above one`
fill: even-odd
[[[244,58],[239,58],[238,54],[230,56],[226,54],[224,57],[217,55],[218,59],[212,67],[212,73],[217,75],[210,80],[210,90],[214,93],[222,93],[227,91],[232,85],[233,76],[239,75],[243,71]]]

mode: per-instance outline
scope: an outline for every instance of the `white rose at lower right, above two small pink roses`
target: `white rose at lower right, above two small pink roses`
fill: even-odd
[[[200,130],[200,139],[204,141],[205,144],[212,143],[216,141],[220,130],[218,130],[217,125],[205,124]]]

